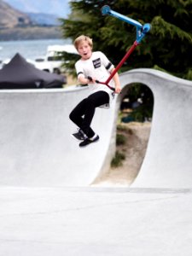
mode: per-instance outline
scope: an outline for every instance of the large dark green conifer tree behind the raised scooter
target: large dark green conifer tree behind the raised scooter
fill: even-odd
[[[102,50],[117,65],[135,41],[136,28],[112,16],[103,16],[101,8],[105,3],[71,1],[71,14],[61,19],[61,30],[64,38],[72,40],[80,34],[89,35],[94,49]],[[192,0],[119,0],[110,1],[110,7],[142,24],[152,25],[120,72],[149,67],[192,80]],[[73,63],[68,67],[72,68]]]

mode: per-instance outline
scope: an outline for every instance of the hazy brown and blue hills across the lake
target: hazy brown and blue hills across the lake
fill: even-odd
[[[27,15],[0,0],[1,41],[61,38],[56,22],[55,15]]]

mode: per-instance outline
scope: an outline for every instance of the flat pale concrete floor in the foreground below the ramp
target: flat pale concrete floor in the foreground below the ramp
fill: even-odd
[[[1,188],[1,256],[190,256],[189,189]]]

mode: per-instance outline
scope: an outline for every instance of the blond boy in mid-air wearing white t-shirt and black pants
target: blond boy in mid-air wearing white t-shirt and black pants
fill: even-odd
[[[79,126],[79,131],[73,133],[72,136],[78,140],[83,140],[79,143],[79,147],[83,148],[99,140],[99,136],[90,128],[95,109],[98,107],[109,108],[114,97],[113,90],[105,84],[97,84],[96,80],[106,81],[114,67],[101,51],[92,52],[91,38],[84,35],[79,36],[75,39],[74,46],[81,56],[81,59],[75,63],[78,80],[80,84],[89,84],[90,87],[90,96],[79,102],[69,115],[73,123]],[[114,84],[115,93],[119,94],[121,89],[118,73],[115,73],[109,82],[113,88]]]

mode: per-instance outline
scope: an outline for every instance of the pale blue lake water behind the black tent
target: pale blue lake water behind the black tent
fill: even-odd
[[[12,58],[16,53],[20,53],[26,59],[34,60],[37,56],[46,54],[48,45],[71,44],[71,40],[64,39],[44,39],[26,41],[0,41],[0,61]]]

